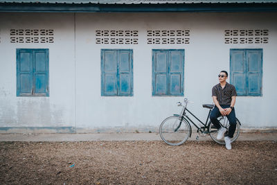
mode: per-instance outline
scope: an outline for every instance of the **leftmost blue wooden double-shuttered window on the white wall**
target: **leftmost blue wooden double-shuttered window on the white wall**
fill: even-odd
[[[17,49],[17,96],[49,96],[48,49]]]

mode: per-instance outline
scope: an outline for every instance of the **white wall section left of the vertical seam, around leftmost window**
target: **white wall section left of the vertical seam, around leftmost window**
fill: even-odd
[[[75,127],[73,14],[0,14],[0,127]],[[10,43],[10,29],[52,29],[53,44]],[[49,49],[49,97],[17,97],[16,49]]]

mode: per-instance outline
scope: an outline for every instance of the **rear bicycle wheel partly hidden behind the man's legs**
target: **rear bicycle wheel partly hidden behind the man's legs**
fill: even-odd
[[[233,143],[233,141],[235,141],[236,139],[238,139],[238,136],[240,135],[240,121],[238,121],[238,118],[235,118],[236,121],[237,121],[237,125],[235,127],[235,133],[233,135],[233,138],[231,138],[231,143]],[[228,128],[229,128],[229,121],[227,118],[218,118],[218,120],[220,121],[220,123],[227,128],[227,131],[228,131]],[[211,123],[211,121],[208,123],[208,129],[209,129],[209,132],[210,132],[210,136],[211,138],[213,139],[213,141],[219,143],[219,144],[222,144],[222,145],[225,145],[225,141],[224,141],[224,137],[220,140],[217,139],[217,134],[218,134],[218,130],[217,128],[215,127],[215,125],[213,125],[213,123]]]

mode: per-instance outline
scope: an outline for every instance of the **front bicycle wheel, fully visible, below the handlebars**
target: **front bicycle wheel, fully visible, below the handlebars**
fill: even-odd
[[[170,116],[160,125],[159,133],[161,139],[170,146],[179,146],[190,136],[190,125],[184,118]]]

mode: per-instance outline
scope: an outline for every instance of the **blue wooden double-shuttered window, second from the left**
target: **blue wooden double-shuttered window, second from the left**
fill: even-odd
[[[101,50],[101,95],[133,96],[132,50]]]

